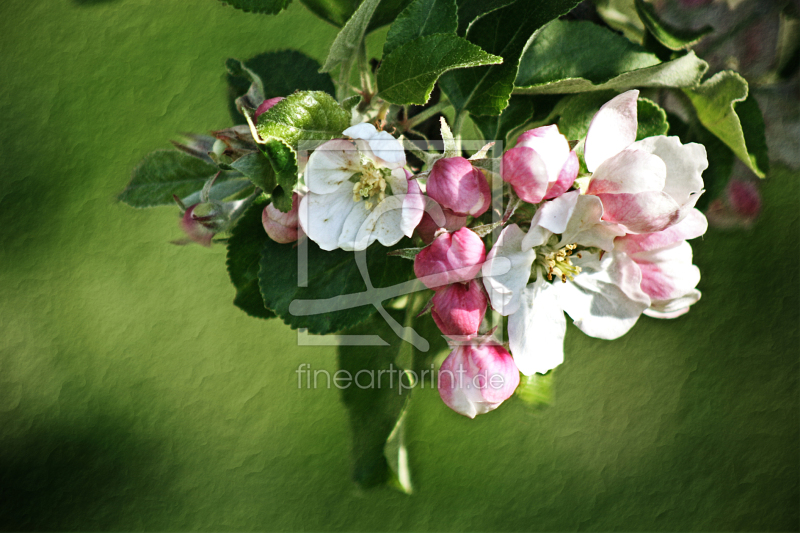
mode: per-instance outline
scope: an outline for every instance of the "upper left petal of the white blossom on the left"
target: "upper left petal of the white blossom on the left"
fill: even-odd
[[[334,139],[317,147],[308,158],[304,174],[306,186],[311,192],[330,194],[341,187],[351,187],[345,184],[360,169],[361,156],[355,145],[344,139]]]

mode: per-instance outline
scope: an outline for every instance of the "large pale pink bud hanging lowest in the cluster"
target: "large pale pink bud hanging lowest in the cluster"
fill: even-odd
[[[502,346],[462,345],[439,370],[439,396],[456,413],[475,418],[496,409],[514,394],[519,370]]]

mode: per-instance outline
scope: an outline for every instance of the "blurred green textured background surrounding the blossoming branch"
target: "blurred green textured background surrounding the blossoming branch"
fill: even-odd
[[[335,367],[231,301],[225,250],[116,202],[180,131],[225,127],[223,62],[336,35],[215,0],[0,7],[0,528],[797,530],[798,179],[694,243],[704,297],[616,342],[570,326],[556,400],[474,421],[417,390],[416,493],[349,480]],[[380,45],[385,32],[373,37]],[[780,142],[780,140],[772,140]]]

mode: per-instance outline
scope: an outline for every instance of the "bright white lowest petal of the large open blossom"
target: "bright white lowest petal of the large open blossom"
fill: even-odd
[[[514,362],[526,376],[544,374],[564,362],[567,320],[558,303],[559,285],[539,276],[521,295],[521,305],[508,317],[508,341]]]

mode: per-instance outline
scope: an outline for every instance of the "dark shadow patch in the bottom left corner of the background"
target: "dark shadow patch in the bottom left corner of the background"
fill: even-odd
[[[0,530],[118,527],[136,498],[166,508],[164,455],[163,442],[142,439],[119,420],[8,439],[0,450]]]

